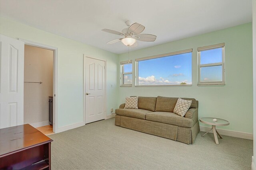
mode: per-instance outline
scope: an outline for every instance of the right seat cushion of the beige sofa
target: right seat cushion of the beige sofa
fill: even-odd
[[[176,125],[180,127],[193,127],[193,120],[181,117],[175,113],[156,111],[146,114],[146,120]]]

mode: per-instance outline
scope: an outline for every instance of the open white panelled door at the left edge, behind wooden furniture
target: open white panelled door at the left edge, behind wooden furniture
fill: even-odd
[[[24,42],[0,35],[0,129],[23,125]]]

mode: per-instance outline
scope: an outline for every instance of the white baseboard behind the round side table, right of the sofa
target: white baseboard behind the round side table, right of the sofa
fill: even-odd
[[[207,132],[210,129],[211,129],[210,127],[200,126],[200,131],[203,131],[203,132]],[[253,134],[250,134],[250,133],[228,131],[228,130],[223,130],[223,129],[217,129],[217,131],[220,133],[220,135],[226,135],[226,136],[231,136],[231,137],[239,137],[239,138],[243,138],[243,139],[253,140]],[[210,133],[213,133],[213,132],[210,131]]]

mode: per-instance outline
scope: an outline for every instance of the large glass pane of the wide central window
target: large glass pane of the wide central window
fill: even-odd
[[[192,53],[138,61],[138,85],[192,84]]]

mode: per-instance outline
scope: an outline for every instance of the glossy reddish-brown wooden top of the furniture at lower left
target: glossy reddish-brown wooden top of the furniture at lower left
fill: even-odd
[[[29,124],[0,129],[0,157],[53,140]]]

